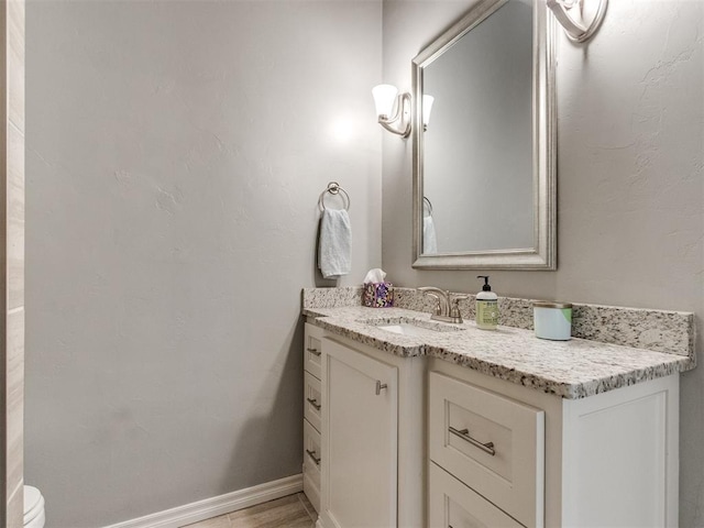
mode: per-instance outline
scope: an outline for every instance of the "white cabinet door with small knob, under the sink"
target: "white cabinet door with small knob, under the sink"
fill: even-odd
[[[326,528],[397,521],[398,370],[322,343],[322,505]]]

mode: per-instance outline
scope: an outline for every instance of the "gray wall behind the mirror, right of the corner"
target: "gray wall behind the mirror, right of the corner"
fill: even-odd
[[[384,1],[384,80],[470,1]],[[704,2],[618,0],[586,45],[558,42],[557,272],[488,272],[499,295],[704,314]],[[410,267],[410,142],[384,138],[383,264],[404,286],[476,292]],[[704,369],[682,376],[681,526],[704,526]]]

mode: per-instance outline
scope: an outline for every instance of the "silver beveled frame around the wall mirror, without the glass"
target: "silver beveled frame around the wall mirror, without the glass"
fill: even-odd
[[[557,270],[557,112],[554,22],[546,0],[534,0],[532,207],[534,248],[422,253],[422,73],[464,34],[508,0],[482,0],[413,59],[414,256],[420,270]]]

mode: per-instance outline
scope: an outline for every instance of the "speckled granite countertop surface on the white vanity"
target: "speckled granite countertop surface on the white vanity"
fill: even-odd
[[[427,312],[404,308],[305,308],[304,315],[331,333],[392,354],[439,358],[568,399],[593,396],[695,366],[689,356],[576,338],[548,341],[536,338],[531,330],[513,327],[481,330],[473,321],[448,324],[431,321]],[[398,323],[404,319],[446,330],[453,327],[453,331],[405,336],[374,326],[384,321]]]

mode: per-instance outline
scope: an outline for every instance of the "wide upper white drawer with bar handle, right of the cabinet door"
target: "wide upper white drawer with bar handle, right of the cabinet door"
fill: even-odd
[[[525,526],[542,526],[544,413],[436,372],[429,377],[430,459]]]

